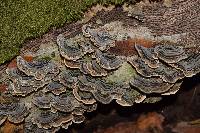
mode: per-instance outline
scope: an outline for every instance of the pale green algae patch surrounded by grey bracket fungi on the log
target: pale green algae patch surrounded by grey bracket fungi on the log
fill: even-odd
[[[124,62],[119,69],[106,77],[106,81],[109,83],[129,82],[135,73],[135,69],[129,63]]]

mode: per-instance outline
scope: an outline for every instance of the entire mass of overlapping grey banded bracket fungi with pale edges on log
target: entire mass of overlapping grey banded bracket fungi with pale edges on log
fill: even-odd
[[[163,95],[175,94],[184,77],[200,72],[200,54],[184,46],[160,41],[147,47],[135,42],[127,45],[125,50],[132,52],[127,55],[123,43],[117,43],[127,40],[119,36],[84,25],[74,37],[57,37],[61,64],[18,56],[16,66],[6,70],[10,83],[1,96],[0,124],[6,119],[23,121],[26,132],[67,129],[83,122],[84,112],[96,110],[98,103],[155,103]],[[121,49],[113,52],[117,47]]]

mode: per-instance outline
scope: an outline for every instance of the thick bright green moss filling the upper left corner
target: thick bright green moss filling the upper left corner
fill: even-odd
[[[124,0],[1,0],[0,64],[15,57],[28,38],[50,27],[80,19],[93,4],[122,4]]]

